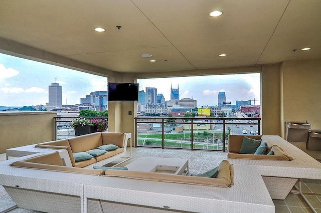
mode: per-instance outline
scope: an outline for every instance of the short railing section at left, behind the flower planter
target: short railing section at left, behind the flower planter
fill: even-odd
[[[69,126],[69,123],[71,121],[74,121],[76,118],[79,118],[79,117],[65,117],[65,116],[54,117],[55,140],[75,137],[75,130],[73,127]],[[89,120],[101,118],[108,122],[108,117],[83,117],[83,118],[88,118]],[[106,131],[108,132],[108,128]]]

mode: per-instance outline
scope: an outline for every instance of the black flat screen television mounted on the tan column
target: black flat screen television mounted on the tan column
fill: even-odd
[[[108,83],[108,101],[138,101],[138,84]]]

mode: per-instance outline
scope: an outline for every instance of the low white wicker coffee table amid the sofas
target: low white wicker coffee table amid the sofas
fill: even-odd
[[[170,174],[185,174],[189,172],[188,159],[140,157],[126,165],[131,171],[159,172]]]

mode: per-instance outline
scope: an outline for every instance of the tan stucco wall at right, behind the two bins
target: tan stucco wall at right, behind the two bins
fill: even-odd
[[[307,121],[311,129],[321,130],[321,61],[283,62],[281,72],[283,125]]]

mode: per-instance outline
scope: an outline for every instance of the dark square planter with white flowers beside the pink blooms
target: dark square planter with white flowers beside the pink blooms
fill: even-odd
[[[97,132],[97,127],[94,126],[94,123],[86,118],[76,118],[69,123],[69,126],[75,129],[76,136]]]

